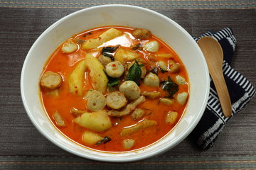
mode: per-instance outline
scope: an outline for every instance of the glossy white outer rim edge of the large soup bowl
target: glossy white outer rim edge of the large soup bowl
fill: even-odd
[[[46,35],[50,30],[52,30],[53,28],[55,28],[55,26],[58,26],[58,24],[62,23],[63,21],[65,21],[66,19],[72,17],[72,16],[75,16],[77,15],[78,13],[82,13],[82,12],[85,12],[85,11],[90,11],[90,10],[95,10],[97,8],[108,8],[108,7],[125,7],[125,8],[134,8],[134,9],[138,9],[138,10],[142,10],[142,11],[146,11],[148,13],[154,13],[154,15],[156,16],[159,16],[161,18],[165,18],[167,21],[169,21],[170,23],[174,24],[174,26],[176,26],[176,28],[178,28],[179,30],[181,30],[188,38],[191,39],[191,42],[193,40],[193,38],[191,37],[191,35],[184,29],[182,28],[180,25],[178,25],[178,23],[176,23],[175,21],[171,20],[171,18],[167,17],[167,16],[164,16],[163,14],[161,13],[158,13],[156,11],[153,11],[153,10],[150,10],[148,8],[143,8],[143,7],[140,7],[140,6],[132,6],[132,5],[124,5],[124,4],[107,4],[107,5],[100,5],[100,6],[92,6],[92,7],[89,7],[89,8],[83,8],[83,9],[80,9],[78,11],[75,11],[73,13],[70,13],[68,14],[67,16],[64,16],[63,18],[60,18],[58,21],[55,21],[55,23],[53,23],[51,26],[49,26],[46,30],[43,31],[43,33],[41,33],[41,35],[36,39],[36,41],[33,43],[33,45],[31,46],[30,50],[28,51],[28,54],[26,55],[26,58],[23,62],[23,67],[22,67],[22,71],[21,71],[21,98],[22,98],[22,101],[23,101],[23,106],[26,110],[26,113],[28,115],[28,118],[30,118],[31,122],[33,123],[33,125],[36,127],[36,129],[41,133],[41,135],[43,135],[44,137],[46,137],[47,140],[49,140],[50,142],[52,142],[54,145],[60,147],[61,149],[67,151],[67,152],[70,152],[71,154],[75,154],[79,157],[83,157],[83,158],[86,158],[86,159],[92,159],[92,160],[95,160],[95,161],[102,161],[102,162],[134,162],[134,161],[139,161],[139,160],[142,160],[142,159],[146,159],[146,158],[149,158],[149,157],[153,157],[153,156],[156,156],[156,155],[159,155],[159,154],[162,154],[163,152],[167,152],[169,149],[175,147],[176,145],[178,145],[182,140],[184,140],[191,132],[192,130],[196,127],[196,125],[198,124],[199,120],[201,120],[201,117],[203,115],[203,112],[205,111],[206,109],[206,104],[207,104],[207,101],[208,101],[208,96],[209,96],[209,91],[210,91],[210,77],[206,77],[206,94],[204,96],[205,100],[204,103],[202,104],[201,108],[200,108],[200,113],[196,114],[196,121],[192,123],[192,125],[186,130],[186,132],[184,132],[182,135],[179,135],[179,137],[174,140],[174,145],[166,145],[164,147],[161,147],[161,149],[159,149],[158,152],[154,152],[154,153],[151,153],[149,155],[144,155],[142,157],[125,157],[125,158],[122,158],[122,157],[117,157],[115,159],[113,158],[107,158],[107,157],[92,157],[90,155],[85,155],[85,154],[81,154],[80,152],[76,152],[74,151],[73,149],[70,149],[68,147],[65,147],[63,145],[58,145],[58,141],[53,139],[52,137],[50,137],[50,135],[47,134],[47,132],[45,130],[43,130],[43,128],[41,127],[41,125],[39,125],[38,123],[36,123],[36,120],[35,118],[33,118],[33,115],[31,115],[30,111],[29,111],[29,108],[28,108],[28,104],[26,103],[26,95],[25,95],[25,91],[24,91],[24,82],[23,82],[23,77],[25,77],[25,67],[28,63],[28,58],[29,56],[31,55],[31,52],[32,52],[32,49],[34,47],[36,47],[36,44],[39,42],[39,40],[44,36]],[[195,40],[193,40],[193,42],[196,44],[196,48],[198,50],[198,52],[201,52],[201,49],[198,47],[197,43]],[[201,55],[203,56],[203,53],[201,52]],[[206,64],[206,60],[204,60],[204,57],[203,58],[203,64],[205,66],[205,72],[206,72],[206,75],[209,75],[208,74],[208,67],[207,67],[207,64]],[[39,87],[38,87],[39,89]]]

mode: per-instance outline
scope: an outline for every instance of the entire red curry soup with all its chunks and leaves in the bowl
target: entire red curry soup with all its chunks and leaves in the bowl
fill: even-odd
[[[181,119],[188,74],[176,52],[143,28],[107,26],[73,35],[43,69],[41,99],[66,137],[124,152],[160,140]]]

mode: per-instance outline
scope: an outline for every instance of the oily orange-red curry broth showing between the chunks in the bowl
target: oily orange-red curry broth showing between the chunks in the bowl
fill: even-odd
[[[80,33],[78,35],[73,35],[73,37],[70,39],[80,38],[82,40],[87,40],[90,38],[97,38],[101,33],[105,32],[105,30],[109,28],[117,28],[118,30],[122,30],[123,33],[128,33],[129,35],[131,35],[133,30],[133,28],[123,28],[118,26],[96,28],[93,30],[87,30],[86,32]],[[137,43],[137,40],[132,38],[128,38],[128,40],[122,40],[122,42],[120,42],[120,40],[122,40],[122,38],[119,38],[119,39],[117,38],[117,40],[112,40],[111,42],[108,42],[106,46],[110,46],[110,45],[114,46],[114,45],[119,45],[121,43],[122,45],[129,47],[130,45],[134,45]],[[157,40],[158,42],[161,42],[158,53],[159,54],[171,53],[171,55],[173,55],[172,59],[181,64],[181,71],[179,72],[179,75],[181,75],[188,81],[186,69],[182,64],[181,60],[179,59],[178,55],[176,55],[176,53],[174,52],[174,50],[172,50],[171,47],[169,47],[169,45],[166,45],[165,42],[163,42],[162,40],[159,40],[159,38],[156,38],[154,35],[151,36],[149,40]],[[143,116],[143,118],[140,118],[139,120],[134,120],[131,115],[125,115],[122,118],[110,117],[112,121],[112,128],[110,128],[105,132],[97,132],[97,133],[102,137],[105,137],[105,136],[110,137],[112,140],[110,142],[97,145],[97,146],[86,145],[84,142],[82,142],[82,133],[85,132],[87,129],[82,128],[80,125],[73,123],[73,120],[76,117],[75,115],[70,113],[70,109],[77,108],[78,110],[87,111],[87,107],[86,107],[87,101],[83,99],[83,97],[85,96],[85,93],[88,89],[93,89],[93,86],[91,84],[90,77],[86,72],[85,79],[84,79],[84,84],[85,84],[84,95],[80,97],[75,94],[71,94],[68,87],[68,76],[70,75],[72,70],[75,68],[76,64],[78,64],[80,60],[85,58],[85,55],[87,52],[92,53],[92,55],[94,55],[95,57],[98,57],[100,55],[100,51],[97,51],[97,50],[85,51],[85,50],[81,50],[80,47],[78,47],[78,50],[76,52],[73,52],[72,54],[65,54],[62,52],[61,47],[62,45],[60,45],[60,47],[58,47],[58,49],[55,50],[53,55],[50,56],[48,62],[46,63],[46,66],[43,69],[43,73],[52,71],[52,72],[58,72],[58,74],[62,76],[63,82],[60,88],[58,89],[59,95],[54,96],[53,92],[50,92],[46,89],[41,88],[41,99],[50,120],[53,122],[55,127],[58,128],[58,130],[60,130],[60,132],[62,132],[63,135],[70,138],[70,140],[73,140],[74,142],[78,142],[80,145],[90,147],[92,149],[98,149],[101,151],[108,151],[108,152],[124,152],[124,151],[127,151],[127,149],[124,149],[122,145],[122,141],[126,139],[134,139],[136,142],[134,147],[132,147],[132,149],[139,149],[142,147],[146,147],[147,145],[151,145],[152,143],[161,139],[161,137],[164,137],[168,132],[170,132],[174,128],[176,123],[178,123],[178,120],[180,120],[181,116],[183,115],[186,104],[184,106],[180,106],[177,103],[174,103],[174,105],[172,106],[166,106],[162,103],[159,103],[159,98],[156,98],[154,100],[146,98],[146,101],[137,107],[137,108],[145,109],[146,114]],[[142,53],[144,53],[142,58],[147,62],[149,62],[149,60],[147,59],[148,54],[146,54],[146,52],[144,51],[142,51]],[[168,59],[165,59],[165,60],[167,61]],[[174,80],[176,77],[176,74],[159,72],[160,80],[161,79],[167,80],[168,76]],[[139,86],[139,88],[141,89],[142,92],[143,91],[160,91],[161,97],[166,96],[166,91],[161,89],[161,87],[149,87],[149,86],[146,86],[143,83],[143,81],[140,81],[140,82],[141,82],[141,86]],[[182,91],[188,91],[188,84],[178,86],[178,93]],[[109,110],[109,108],[107,108],[107,110]],[[55,120],[53,119],[53,113],[55,113],[55,111],[58,111],[60,116],[65,121],[65,127],[58,127],[58,125],[56,125]],[[168,111],[178,112],[178,119],[176,120],[176,123],[172,125],[165,123],[165,118]],[[156,120],[157,125],[146,128],[139,132],[134,132],[128,136],[120,135],[120,132],[124,127],[134,125],[138,123],[138,121],[143,120],[144,118],[147,118],[149,120]]]

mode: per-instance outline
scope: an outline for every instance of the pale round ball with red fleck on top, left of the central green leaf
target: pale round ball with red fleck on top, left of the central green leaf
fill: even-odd
[[[108,76],[113,77],[113,78],[118,78],[121,77],[122,74],[124,73],[124,66],[122,65],[121,62],[110,62],[109,64],[106,65],[106,73]]]

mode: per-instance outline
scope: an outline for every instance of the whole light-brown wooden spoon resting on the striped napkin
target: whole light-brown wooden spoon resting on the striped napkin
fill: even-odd
[[[230,117],[232,108],[228,88],[223,77],[223,50],[219,42],[211,37],[201,38],[198,40],[198,45],[206,58],[210,76],[220,98],[223,114],[225,117]]]

